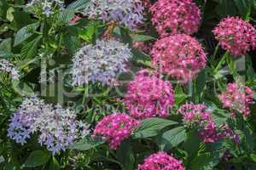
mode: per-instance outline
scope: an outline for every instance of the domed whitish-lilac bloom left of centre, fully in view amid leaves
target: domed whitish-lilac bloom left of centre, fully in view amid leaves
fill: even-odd
[[[96,45],[86,45],[73,57],[73,85],[88,82],[109,85],[126,71],[125,64],[131,57],[131,49],[122,42],[96,41]]]

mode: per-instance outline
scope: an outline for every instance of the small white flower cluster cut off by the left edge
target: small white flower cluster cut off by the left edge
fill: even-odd
[[[8,73],[14,80],[18,80],[20,77],[15,65],[10,63],[7,59],[0,59],[0,71]]]

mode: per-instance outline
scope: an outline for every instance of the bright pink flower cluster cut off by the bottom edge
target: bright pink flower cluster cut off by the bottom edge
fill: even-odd
[[[165,152],[158,152],[146,158],[137,170],[185,170],[182,161],[178,161]]]

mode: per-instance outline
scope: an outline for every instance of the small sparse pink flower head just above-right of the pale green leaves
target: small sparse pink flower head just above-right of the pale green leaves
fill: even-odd
[[[193,103],[182,105],[177,112],[183,115],[183,122],[188,126],[209,122],[212,114],[211,111],[207,111],[206,105]]]

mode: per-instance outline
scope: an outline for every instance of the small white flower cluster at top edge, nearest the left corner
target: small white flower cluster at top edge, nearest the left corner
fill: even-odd
[[[27,3],[28,7],[39,7],[42,9],[43,14],[49,17],[54,14],[56,8],[64,8],[63,0],[32,0]]]

